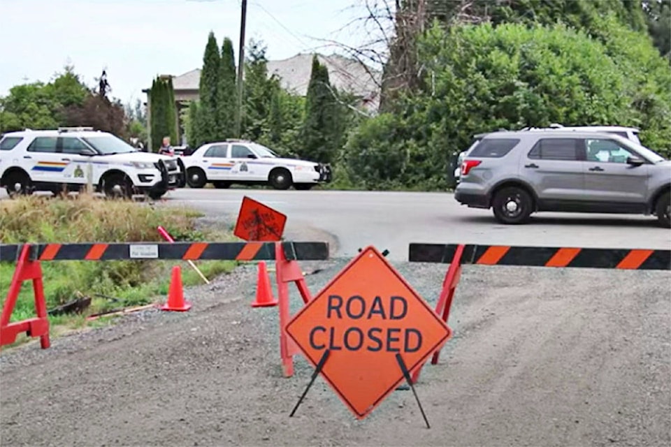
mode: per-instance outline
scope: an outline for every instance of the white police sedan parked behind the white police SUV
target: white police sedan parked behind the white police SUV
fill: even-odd
[[[283,159],[272,149],[247,140],[226,140],[202,145],[182,158],[187,184],[216,188],[231,184],[270,184],[275,189],[307,190],[331,182],[331,167],[313,161]]]

